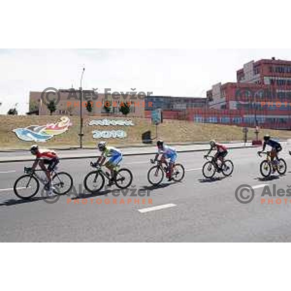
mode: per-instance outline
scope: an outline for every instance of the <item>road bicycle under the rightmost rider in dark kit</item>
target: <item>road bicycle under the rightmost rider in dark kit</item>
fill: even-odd
[[[272,169],[277,171],[279,175],[284,175],[287,172],[287,163],[284,159],[276,158],[271,161],[271,152],[258,152],[259,157],[264,154],[266,159],[260,163],[259,170],[264,178],[268,178],[272,174]]]

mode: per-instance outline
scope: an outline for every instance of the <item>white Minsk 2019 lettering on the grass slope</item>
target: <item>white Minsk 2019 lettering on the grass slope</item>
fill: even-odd
[[[133,122],[124,119],[99,119],[99,120],[91,120],[88,124],[89,126],[134,126]],[[127,133],[122,130],[94,130],[92,131],[93,138],[126,138]]]

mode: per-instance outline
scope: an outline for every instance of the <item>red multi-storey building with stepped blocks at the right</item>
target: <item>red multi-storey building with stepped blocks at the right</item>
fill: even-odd
[[[260,60],[237,71],[237,82],[207,92],[208,109],[188,110],[195,122],[291,129],[291,61]]]

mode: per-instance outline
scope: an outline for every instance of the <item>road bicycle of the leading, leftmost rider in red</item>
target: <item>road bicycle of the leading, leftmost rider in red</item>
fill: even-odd
[[[44,185],[44,190],[49,191],[47,177],[43,178],[39,172],[44,170],[34,170],[24,167],[25,175],[19,177],[14,183],[14,193],[21,199],[30,199],[35,196],[39,190],[40,184]],[[64,195],[71,191],[73,187],[73,178],[65,172],[56,172],[52,170],[52,186],[54,194]]]

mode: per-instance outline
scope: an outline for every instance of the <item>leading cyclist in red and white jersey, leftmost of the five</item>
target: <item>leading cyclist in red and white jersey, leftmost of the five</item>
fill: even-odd
[[[55,151],[49,149],[40,149],[37,145],[31,147],[31,153],[36,156],[36,160],[32,165],[32,171],[35,170],[37,165],[46,173],[49,183],[49,195],[53,192],[53,187],[51,183],[51,173],[55,169],[56,165],[59,163],[58,155]],[[48,165],[48,168],[46,167]]]

